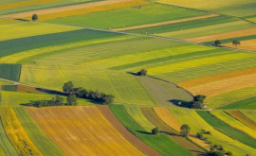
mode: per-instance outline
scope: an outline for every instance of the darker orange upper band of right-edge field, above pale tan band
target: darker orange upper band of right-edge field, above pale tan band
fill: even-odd
[[[221,73],[213,76],[207,76],[203,78],[194,78],[194,79],[189,79],[186,81],[181,81],[178,82],[177,84],[179,86],[182,86],[184,88],[192,88],[194,86],[202,85],[202,84],[207,84],[211,82],[216,82],[228,78],[239,78],[241,76],[247,76],[251,74],[256,74],[256,68],[248,68],[248,69],[243,69],[243,70],[237,70],[237,71],[232,71],[229,73]]]

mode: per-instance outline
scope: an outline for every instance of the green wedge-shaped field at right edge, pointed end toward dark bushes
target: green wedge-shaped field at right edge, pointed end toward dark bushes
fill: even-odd
[[[256,109],[256,97],[249,97],[247,99],[242,99],[237,102],[230,103],[229,105],[220,107],[219,109],[247,109],[247,110],[255,110]]]

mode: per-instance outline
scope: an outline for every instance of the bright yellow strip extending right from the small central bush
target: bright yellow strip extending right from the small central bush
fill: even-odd
[[[176,63],[170,63],[167,65],[150,68],[148,69],[148,71],[150,75],[160,75],[160,74],[175,72],[175,71],[179,71],[187,68],[194,68],[202,65],[215,64],[218,62],[242,60],[242,59],[250,58],[251,56],[254,56],[254,55],[247,54],[247,53],[226,54],[226,55],[213,56],[213,57],[202,58],[202,59],[192,60],[192,61],[181,61]]]

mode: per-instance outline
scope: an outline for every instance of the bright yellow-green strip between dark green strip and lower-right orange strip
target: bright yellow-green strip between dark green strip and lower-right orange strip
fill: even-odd
[[[248,128],[246,125],[244,125],[243,123],[241,123],[240,121],[238,121],[237,119],[229,115],[229,113],[225,113],[223,111],[214,111],[210,113],[216,116],[219,120],[227,123],[229,127],[236,130],[240,130],[246,133],[247,135],[249,135],[254,140],[256,140],[256,136],[255,136],[256,130],[252,130]]]

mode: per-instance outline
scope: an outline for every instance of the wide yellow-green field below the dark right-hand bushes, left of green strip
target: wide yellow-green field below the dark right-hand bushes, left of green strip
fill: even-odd
[[[230,138],[221,131],[213,129],[210,124],[193,110],[170,108],[169,111],[179,123],[188,124],[193,133],[201,132],[202,130],[210,131],[210,135],[204,134],[204,136],[208,138],[212,145],[222,145],[226,150],[233,151],[233,154],[236,156],[244,155],[244,153],[253,155],[256,151],[254,148]]]

